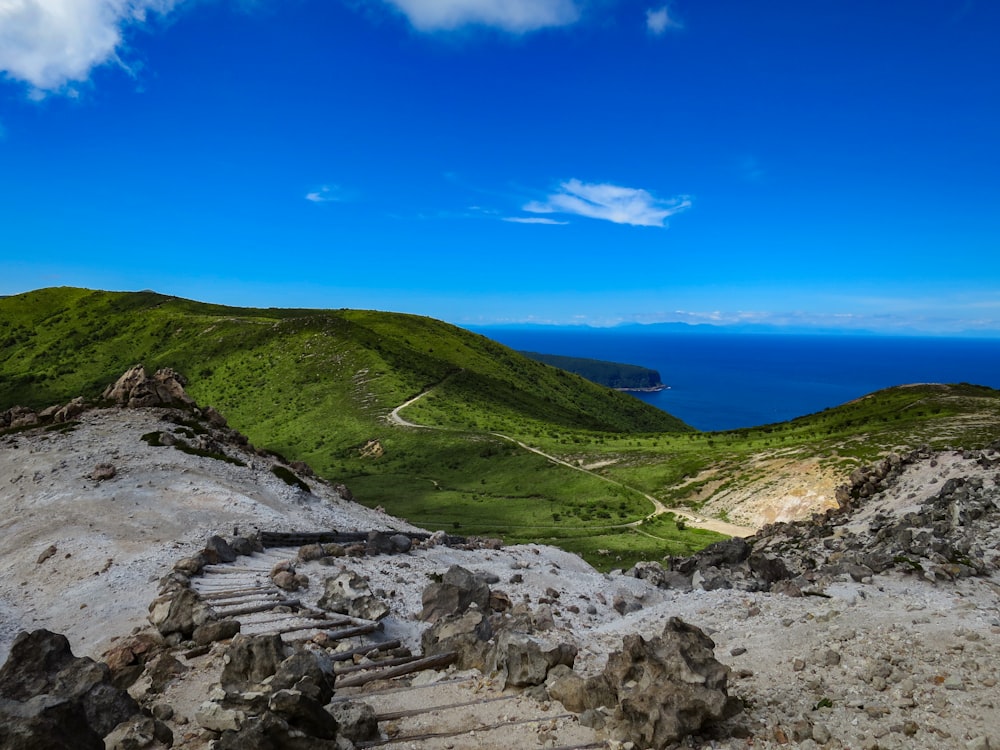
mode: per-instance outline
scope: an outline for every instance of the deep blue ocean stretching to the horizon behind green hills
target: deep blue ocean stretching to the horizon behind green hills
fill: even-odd
[[[669,389],[634,395],[699,430],[782,422],[908,383],[1000,388],[1000,341],[995,339],[475,330],[520,351],[658,370]]]

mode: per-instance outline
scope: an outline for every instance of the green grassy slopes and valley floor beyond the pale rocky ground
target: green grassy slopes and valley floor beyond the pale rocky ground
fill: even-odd
[[[152,292],[0,299],[0,409],[96,396],[136,362],[184,373],[191,394],[255,444],[308,461],[362,502],[432,528],[555,540],[602,567],[715,538],[667,519],[643,529],[659,540],[620,528],[649,505],[617,483],[698,507],[709,482],[760,481],[746,468],[762,456],[818,456],[846,476],[893,449],[1000,439],[1000,393],[964,384],[894,388],[786,423],[696,433],[428,318],[227,308]],[[405,416],[446,429],[387,423],[393,407],[428,388]],[[571,462],[613,462],[599,470],[611,481],[555,466],[497,432]],[[363,455],[373,441],[383,454]]]

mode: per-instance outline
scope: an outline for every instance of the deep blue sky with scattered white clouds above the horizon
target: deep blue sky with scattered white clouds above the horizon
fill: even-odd
[[[1000,3],[0,0],[0,294],[1000,331]]]

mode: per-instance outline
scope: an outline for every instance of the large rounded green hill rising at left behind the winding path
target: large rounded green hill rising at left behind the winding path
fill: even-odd
[[[366,428],[447,382],[434,424],[631,432],[680,420],[431,318],[232,308],[154,292],[42,289],[0,300],[0,404],[95,396],[130,364],[174,367],[236,421],[326,412]],[[291,414],[289,414],[291,412]],[[280,416],[279,416],[280,415]],[[270,431],[268,431],[270,434]]]

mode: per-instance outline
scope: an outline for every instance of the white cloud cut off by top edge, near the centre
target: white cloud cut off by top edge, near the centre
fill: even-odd
[[[385,0],[419,31],[493,26],[515,33],[566,26],[580,17],[576,0]]]

